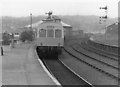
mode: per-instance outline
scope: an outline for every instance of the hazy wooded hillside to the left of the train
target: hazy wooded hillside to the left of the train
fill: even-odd
[[[43,19],[42,16],[33,17],[33,23]],[[11,32],[16,29],[21,29],[24,26],[30,24],[29,17],[2,17],[2,28],[5,31]]]

